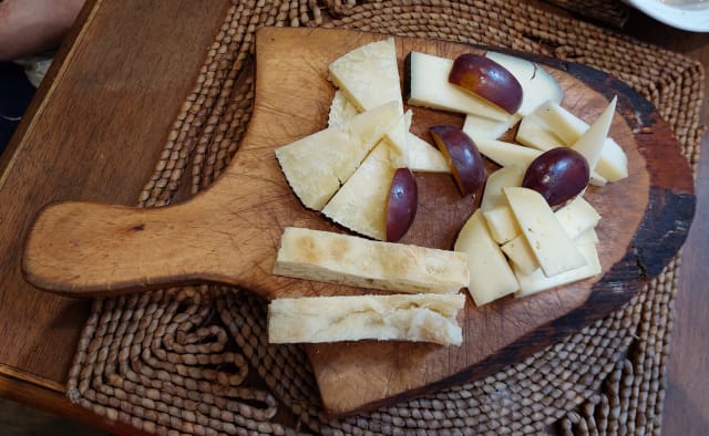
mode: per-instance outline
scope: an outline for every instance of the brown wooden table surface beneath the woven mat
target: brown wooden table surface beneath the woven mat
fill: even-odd
[[[90,0],[66,38],[0,157],[0,395],[113,433],[134,433],[63,397],[90,302],[27,284],[19,253],[29,225],[48,203],[136,203],[226,3]],[[624,32],[709,66],[708,35],[669,29],[639,13],[631,14]],[[181,50],[164,50],[166,44]],[[65,75],[74,64],[82,65],[81,76]],[[121,102],[121,111],[101,106],[106,93]],[[44,105],[49,97],[64,104]],[[131,108],[145,105],[156,110],[134,116]],[[709,125],[707,106],[701,122]],[[163,107],[174,111],[157,110]],[[702,148],[708,142],[705,137]],[[702,283],[709,264],[708,177],[709,158],[703,158],[698,166],[698,210],[684,248],[676,300],[662,425],[667,435],[702,434],[709,428],[709,391],[703,386],[709,380],[709,318],[705,314],[709,293]]]

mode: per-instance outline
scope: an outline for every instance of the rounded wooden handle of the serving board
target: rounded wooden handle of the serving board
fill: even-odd
[[[91,203],[47,207],[30,229],[22,270],[35,287],[72,297],[115,295],[166,284],[222,282],[253,261],[234,255],[238,227],[215,229],[208,208],[138,209]]]

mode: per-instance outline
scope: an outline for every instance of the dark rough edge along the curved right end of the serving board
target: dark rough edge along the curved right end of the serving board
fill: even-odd
[[[649,280],[665,269],[689,233],[697,203],[691,169],[681,156],[679,143],[671,129],[659,116],[653,103],[624,82],[590,66],[508,49],[469,45],[475,50],[497,51],[559,70],[582,81],[608,101],[617,96],[616,112],[633,131],[638,152],[646,160],[650,178],[648,207],[625,257],[610,267],[593,287],[584,305],[541,325],[512,344],[500,349],[495,355],[464,371],[425,386],[364,404],[347,413],[332,414],[332,416],[343,417],[371,412],[451,385],[483,378],[508,365],[510,355],[517,355],[515,361],[522,361],[565,336],[578,332],[630,301]]]

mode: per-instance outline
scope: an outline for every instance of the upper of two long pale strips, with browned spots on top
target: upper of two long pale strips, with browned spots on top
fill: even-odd
[[[284,230],[274,273],[410,293],[456,293],[470,281],[464,253],[297,227]]]

